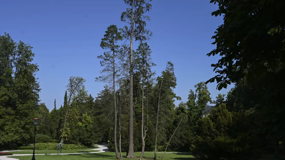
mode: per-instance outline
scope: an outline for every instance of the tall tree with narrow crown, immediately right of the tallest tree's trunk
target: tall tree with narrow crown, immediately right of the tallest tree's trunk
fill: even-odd
[[[142,96],[141,96],[141,103],[142,103],[142,123],[141,123],[141,134],[142,134],[142,151],[140,158],[143,158],[144,155],[144,147],[145,142],[144,139],[146,137],[146,132],[148,127],[144,126],[144,87],[151,81],[152,76],[155,72],[151,71],[151,67],[155,64],[152,62],[150,58],[151,50],[147,43],[140,43],[137,52],[135,54],[135,69],[137,73],[140,75],[140,81],[142,86]],[[148,103],[148,102],[146,102]],[[148,116],[147,116],[147,126],[148,126]]]

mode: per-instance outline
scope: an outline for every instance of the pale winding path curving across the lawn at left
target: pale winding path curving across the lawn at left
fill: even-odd
[[[89,149],[89,150],[82,150],[82,151],[91,151],[91,150],[96,150],[98,152],[88,152],[88,153],[64,153],[65,154],[89,154],[89,153],[101,153],[101,152],[107,152],[109,151],[108,145],[98,145],[98,148],[94,148],[94,149]],[[19,151],[19,150],[18,150]],[[8,152],[12,152],[12,151],[8,151]],[[5,155],[5,156],[0,156],[0,160],[18,160],[15,158],[9,158],[10,156],[22,156],[22,155],[32,155],[32,154],[13,154],[13,155]],[[35,154],[35,155],[44,155],[44,154]],[[57,155],[57,153],[54,154],[50,154],[50,155]]]

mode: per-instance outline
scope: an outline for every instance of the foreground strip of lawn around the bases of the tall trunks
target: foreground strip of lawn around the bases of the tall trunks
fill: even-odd
[[[123,157],[126,158],[126,153],[123,153]],[[135,156],[139,157],[141,153],[136,152]],[[163,153],[157,153],[157,157],[160,158]],[[144,157],[153,157],[154,153],[144,153]],[[16,158],[20,160],[30,160],[32,156],[11,156],[10,158]],[[90,154],[75,154],[75,155],[36,155],[36,159],[49,160],[49,159],[60,159],[60,160],[90,160],[90,159],[116,159],[115,152],[103,152],[103,153],[90,153]],[[136,160],[138,158],[135,158]],[[198,160],[194,158],[190,153],[166,153],[163,160]]]

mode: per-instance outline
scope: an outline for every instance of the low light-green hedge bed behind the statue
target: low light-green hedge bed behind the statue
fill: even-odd
[[[36,143],[36,150],[56,150],[58,143]],[[63,144],[62,150],[79,149],[76,144]]]

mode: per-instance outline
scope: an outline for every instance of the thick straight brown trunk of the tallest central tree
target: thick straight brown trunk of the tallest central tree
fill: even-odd
[[[131,38],[130,38],[130,118],[129,118],[129,151],[127,158],[135,158],[134,155],[134,122],[133,122],[133,20],[134,0],[132,4]]]

